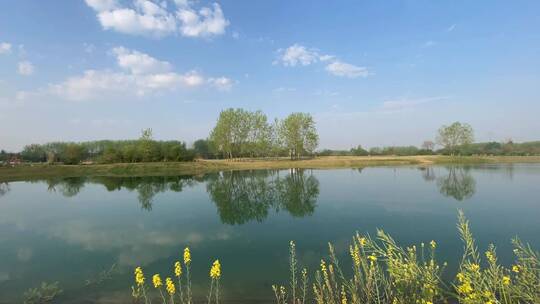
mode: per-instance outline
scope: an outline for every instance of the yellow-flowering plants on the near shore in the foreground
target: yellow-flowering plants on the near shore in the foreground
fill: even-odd
[[[338,261],[336,248],[328,244],[329,255],[319,268],[309,271],[297,259],[296,244],[289,249],[289,282],[272,285],[277,304],[518,304],[540,303],[540,259],[538,252],[518,238],[514,263],[498,263],[493,244],[483,254],[477,247],[469,221],[460,211],[457,229],[463,253],[453,280],[443,279],[447,264],[437,259],[437,242],[401,247],[383,230],[375,238],[356,233],[348,248],[350,270]],[[186,252],[188,254],[186,258]],[[347,263],[347,264],[348,264]],[[189,267],[191,255],[184,251],[165,280],[160,274],[147,283],[142,268],[135,269],[132,295],[138,303],[193,303]],[[183,269],[186,274],[183,275]],[[175,278],[174,280],[171,278]],[[221,264],[216,260],[209,271],[207,303],[219,302]]]

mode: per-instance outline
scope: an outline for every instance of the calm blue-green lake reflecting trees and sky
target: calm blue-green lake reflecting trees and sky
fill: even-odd
[[[401,245],[436,240],[452,277],[461,257],[457,210],[483,252],[503,263],[518,235],[540,245],[540,164],[257,170],[175,177],[88,177],[0,183],[0,303],[41,282],[58,303],[130,303],[133,269],[172,275],[192,251],[193,289],[222,264],[229,303],[272,302],[288,278],[288,244],[313,269],[332,242],[377,228]],[[347,266],[348,267],[348,266]]]

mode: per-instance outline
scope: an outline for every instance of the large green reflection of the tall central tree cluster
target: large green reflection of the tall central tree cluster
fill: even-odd
[[[302,217],[315,210],[319,181],[305,170],[288,174],[271,170],[230,171],[212,175],[207,191],[216,203],[222,222],[244,224],[263,221],[270,209],[287,210]]]

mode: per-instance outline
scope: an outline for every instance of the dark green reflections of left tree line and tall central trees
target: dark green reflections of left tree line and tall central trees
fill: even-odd
[[[181,192],[200,182],[207,182],[206,190],[216,204],[222,222],[227,224],[243,224],[252,220],[261,222],[270,210],[286,210],[295,217],[311,215],[319,195],[319,181],[313,172],[298,169],[288,172],[232,171],[198,177],[70,177],[45,180],[49,192],[65,197],[76,196],[87,184],[103,185],[107,191],[135,191],[141,208],[147,211],[152,210],[157,194]],[[4,188],[9,190],[8,184]]]

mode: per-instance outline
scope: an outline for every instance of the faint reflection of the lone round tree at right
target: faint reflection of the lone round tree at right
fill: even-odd
[[[437,179],[439,192],[458,201],[468,199],[476,191],[476,181],[466,167],[448,167],[448,175]]]

